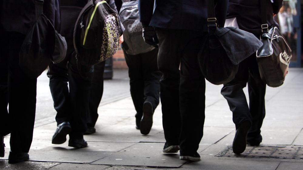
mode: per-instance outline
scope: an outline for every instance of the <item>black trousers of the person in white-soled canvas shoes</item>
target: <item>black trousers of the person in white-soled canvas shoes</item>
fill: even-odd
[[[181,155],[192,155],[205,119],[205,78],[197,62],[205,33],[158,28],[157,35],[164,136],[169,145],[180,144]]]

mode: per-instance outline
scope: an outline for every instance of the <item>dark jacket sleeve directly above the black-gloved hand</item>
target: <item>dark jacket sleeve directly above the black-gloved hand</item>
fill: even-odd
[[[155,0],[139,0],[138,2],[140,21],[144,27],[150,24],[153,16],[154,3]]]

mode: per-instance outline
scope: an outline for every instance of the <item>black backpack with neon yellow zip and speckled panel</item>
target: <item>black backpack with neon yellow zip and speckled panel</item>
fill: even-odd
[[[80,12],[73,33],[76,59],[92,66],[115,54],[119,47],[119,16],[102,0],[89,0]]]

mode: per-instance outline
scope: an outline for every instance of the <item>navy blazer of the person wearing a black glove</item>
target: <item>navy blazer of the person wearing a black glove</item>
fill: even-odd
[[[216,17],[224,26],[228,0],[215,2]],[[139,0],[139,11],[143,26],[207,31],[206,0]]]

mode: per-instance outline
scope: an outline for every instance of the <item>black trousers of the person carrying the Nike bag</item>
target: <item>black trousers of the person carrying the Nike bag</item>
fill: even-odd
[[[248,86],[249,105],[243,88]],[[224,84],[221,94],[226,98],[233,112],[236,128],[244,120],[251,122],[247,141],[261,142],[261,126],[265,117],[266,84],[261,80],[256,54],[251,55],[239,65],[239,70],[229,83]]]

